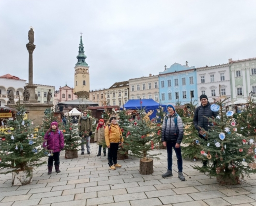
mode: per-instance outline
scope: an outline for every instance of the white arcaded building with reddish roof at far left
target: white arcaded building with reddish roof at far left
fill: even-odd
[[[20,102],[22,103],[25,82],[26,80],[10,74],[0,76],[0,107],[5,107],[8,104],[10,90],[14,93],[14,101],[17,102],[20,97]]]

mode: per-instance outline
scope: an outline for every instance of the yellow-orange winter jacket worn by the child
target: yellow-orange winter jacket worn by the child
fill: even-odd
[[[109,130],[110,127],[110,130]],[[105,128],[105,141],[107,146],[110,146],[110,143],[124,142],[122,131],[118,124],[108,124]]]

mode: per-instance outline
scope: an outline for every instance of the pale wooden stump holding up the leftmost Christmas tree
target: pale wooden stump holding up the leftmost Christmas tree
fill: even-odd
[[[30,175],[26,170],[17,170],[12,172],[12,185],[26,185],[32,182],[33,169],[31,167]]]

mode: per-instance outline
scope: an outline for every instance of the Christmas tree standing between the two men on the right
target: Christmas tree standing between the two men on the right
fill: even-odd
[[[188,105],[188,116],[183,118],[183,123],[185,125],[184,136],[182,143],[185,146],[182,146],[182,156],[183,158],[189,158],[195,161],[195,156],[201,151],[200,142],[201,139],[198,135],[198,130],[195,129],[193,124],[194,110],[195,110],[194,101],[190,101]]]

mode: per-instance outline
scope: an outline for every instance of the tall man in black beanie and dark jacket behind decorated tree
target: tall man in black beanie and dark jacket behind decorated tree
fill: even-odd
[[[199,132],[199,137],[202,140],[206,140],[206,131],[210,129],[210,126],[213,126],[212,123],[208,121],[208,118],[216,117],[218,112],[213,112],[210,110],[210,103],[205,94],[200,96],[201,106],[199,106],[194,111],[193,124],[195,129]],[[207,161],[203,161],[203,165],[206,165]]]

